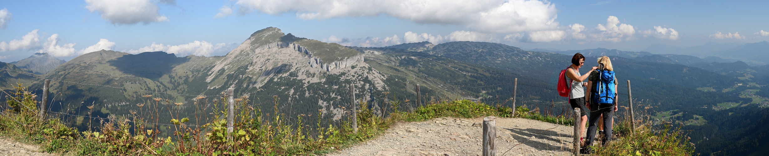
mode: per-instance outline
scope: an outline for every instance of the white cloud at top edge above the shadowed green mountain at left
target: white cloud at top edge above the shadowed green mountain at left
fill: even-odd
[[[174,2],[175,1],[162,1]],[[112,24],[150,24],[168,21],[160,15],[158,5],[150,0],[85,0],[88,11],[97,11]]]

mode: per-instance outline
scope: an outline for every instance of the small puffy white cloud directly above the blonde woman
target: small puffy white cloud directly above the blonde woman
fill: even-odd
[[[635,28],[632,25],[620,24],[619,19],[615,16],[609,16],[609,18],[606,19],[606,25],[598,24],[596,29],[598,29],[600,33],[591,34],[596,41],[628,41],[633,37],[633,34],[635,34]]]

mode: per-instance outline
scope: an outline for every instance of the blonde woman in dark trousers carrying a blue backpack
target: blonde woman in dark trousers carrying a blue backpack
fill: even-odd
[[[585,104],[590,112],[590,126],[588,127],[588,140],[582,147],[583,153],[589,153],[595,138],[595,128],[598,119],[603,120],[603,135],[601,144],[606,145],[611,141],[611,126],[614,123],[612,116],[617,112],[617,77],[614,76],[614,68],[611,66],[611,59],[606,56],[598,57],[598,70],[595,70],[588,78],[588,89],[585,96],[588,101]]]

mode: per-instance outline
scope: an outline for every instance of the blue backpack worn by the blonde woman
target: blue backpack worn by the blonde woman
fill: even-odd
[[[591,90],[591,100],[595,103],[608,103],[614,104],[614,71],[609,70],[596,70],[598,71],[598,82],[593,90]]]

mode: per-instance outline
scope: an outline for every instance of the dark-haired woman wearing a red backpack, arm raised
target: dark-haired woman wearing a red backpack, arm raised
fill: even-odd
[[[571,104],[571,109],[579,108],[581,110],[581,119],[580,119],[580,137],[582,136],[582,132],[584,132],[584,125],[588,122],[588,108],[585,107],[585,100],[584,100],[584,88],[583,86],[587,86],[588,83],[582,83],[582,81],[588,79],[588,76],[590,73],[592,73],[595,69],[598,67],[592,67],[588,73],[585,73],[584,75],[581,75],[579,73],[579,68],[584,65],[584,56],[582,54],[577,53],[574,54],[574,57],[571,57],[571,65],[563,72],[565,82],[568,85],[567,94],[569,97],[569,103]],[[580,140],[580,143],[582,141]]]

